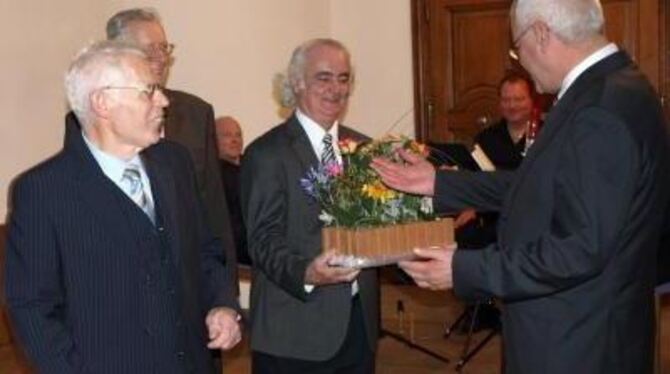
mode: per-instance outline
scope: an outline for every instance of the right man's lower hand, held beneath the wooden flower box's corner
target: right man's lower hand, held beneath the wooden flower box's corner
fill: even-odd
[[[402,261],[398,264],[421,288],[446,290],[453,288],[451,262],[456,252],[456,244],[443,248],[415,249],[418,259]]]

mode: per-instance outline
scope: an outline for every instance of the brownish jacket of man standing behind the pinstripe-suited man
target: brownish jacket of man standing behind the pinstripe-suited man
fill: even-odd
[[[165,138],[186,147],[193,159],[207,222],[212,233],[221,238],[226,254],[228,291],[237,294],[237,254],[226,194],[221,183],[214,111],[209,103],[186,92],[165,90],[165,95],[170,100],[166,108]]]

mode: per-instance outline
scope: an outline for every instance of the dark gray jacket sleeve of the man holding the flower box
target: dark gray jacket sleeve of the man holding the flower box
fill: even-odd
[[[289,247],[286,212],[290,206],[283,165],[279,155],[260,148],[245,152],[240,178],[249,255],[254,267],[272,282],[305,300],[305,270],[312,259]]]

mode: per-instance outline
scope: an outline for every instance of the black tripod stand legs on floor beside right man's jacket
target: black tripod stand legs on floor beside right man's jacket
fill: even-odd
[[[472,350],[470,350],[470,344],[472,343],[472,334],[475,332],[475,326],[477,324],[477,318],[478,316],[481,316],[481,311],[483,308],[488,308],[490,310],[491,315],[489,318],[492,318],[492,324],[490,327],[491,331],[489,331],[484,339],[482,339]],[[487,301],[478,301],[474,307],[472,307],[472,313],[470,314],[470,310],[468,307],[461,313],[461,315],[454,321],[451,325],[449,325],[445,331],[444,331],[444,338],[449,339],[451,334],[456,330],[459,326],[461,326],[464,322],[466,322],[466,318],[470,315],[470,323],[468,324],[468,329],[467,329],[467,337],[465,340],[465,344],[463,345],[463,352],[461,353],[461,357],[456,363],[456,371],[460,372],[463,367],[470,361],[479,351],[481,351],[482,348],[488,343],[491,339],[493,339],[496,334],[499,334],[501,332],[501,323],[500,323],[500,311],[498,308],[495,307],[495,304],[493,303],[493,300],[487,300]],[[481,318],[481,317],[480,317]]]

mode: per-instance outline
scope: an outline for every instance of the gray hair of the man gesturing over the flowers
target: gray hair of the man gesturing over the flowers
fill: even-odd
[[[512,9],[517,30],[543,21],[566,43],[602,35],[605,26],[600,0],[515,0]]]

